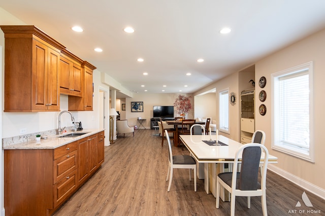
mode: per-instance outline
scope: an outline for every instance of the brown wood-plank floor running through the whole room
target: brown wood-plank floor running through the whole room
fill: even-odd
[[[194,192],[187,169],[174,170],[171,191],[167,192],[167,141],[154,130],[135,130],[105,147],[105,162],[90,179],[53,215],[230,215],[230,202],[220,202],[204,190],[198,179]],[[189,154],[173,147],[173,154]],[[301,198],[305,190],[268,170],[268,215],[324,215],[325,201],[306,191],[313,207]],[[262,215],[260,197],[236,197],[236,215]],[[301,207],[295,207],[297,202]],[[295,213],[296,210],[296,213]],[[300,211],[304,211],[300,213]],[[315,213],[316,212],[316,213]],[[318,213],[320,212],[320,213]]]

